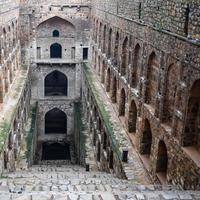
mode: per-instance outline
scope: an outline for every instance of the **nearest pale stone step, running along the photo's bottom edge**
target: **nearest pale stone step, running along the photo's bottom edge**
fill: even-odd
[[[25,194],[0,193],[1,200],[198,200],[198,192],[32,192]]]

